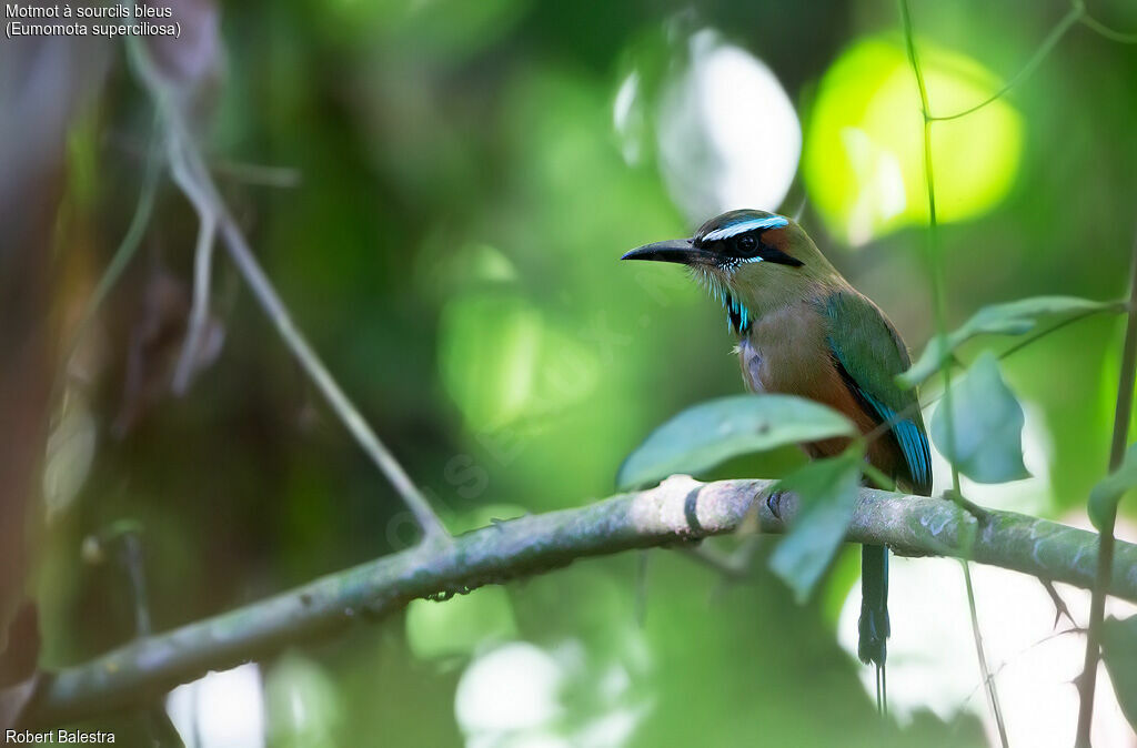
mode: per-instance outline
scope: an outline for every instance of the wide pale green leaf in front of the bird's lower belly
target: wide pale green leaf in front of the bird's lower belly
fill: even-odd
[[[848,418],[803,398],[719,398],[688,408],[653,431],[620,466],[616,485],[623,491],[673,473],[696,474],[738,455],[855,433]]]

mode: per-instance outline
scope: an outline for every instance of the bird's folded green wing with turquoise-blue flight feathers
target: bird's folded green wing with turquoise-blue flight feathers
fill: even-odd
[[[914,390],[896,375],[911,365],[907,349],[877,306],[856,291],[837,291],[823,302],[829,350],[853,397],[878,423],[889,422],[908,467],[912,490],[931,493],[931,452]]]

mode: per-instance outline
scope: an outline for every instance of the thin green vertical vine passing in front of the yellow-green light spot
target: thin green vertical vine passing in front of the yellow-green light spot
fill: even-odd
[[[904,26],[904,41],[907,47],[908,63],[912,65],[912,73],[916,78],[916,88],[920,90],[920,114],[923,119],[924,183],[928,189],[928,264],[929,274],[931,275],[932,309],[936,317],[936,334],[946,336],[947,300],[944,291],[944,261],[939,246],[939,226],[936,218],[936,178],[932,171],[931,158],[931,106],[928,102],[928,86],[924,83],[923,70],[920,67],[920,57],[916,53],[915,38],[912,31],[912,11],[908,9],[907,0],[899,0],[899,2],[901,19]],[[949,359],[945,359],[941,363],[940,371],[944,376],[944,405],[941,407],[946,408],[944,414],[944,424],[947,432],[947,442],[952,444],[954,449],[955,414],[952,409],[952,365]],[[952,496],[958,501],[963,498],[963,492],[960,490],[960,469],[956,467],[954,459],[951,460],[951,466]],[[972,542],[973,535],[966,535],[965,545],[969,551],[966,552],[968,557],[971,556],[970,546]],[[991,716],[995,718],[995,725],[998,730],[999,742],[1003,748],[1007,748],[1006,725],[1003,721],[1003,709],[999,706],[998,690],[995,687],[995,680],[991,678],[990,671],[987,668],[987,656],[984,654],[982,634],[979,630],[979,616],[976,612],[976,598],[971,588],[971,567],[968,565],[966,560],[963,560],[962,565],[963,580],[968,588],[968,607],[971,610],[971,633],[973,634],[976,641],[979,670],[982,674],[984,683],[987,687],[988,701],[991,708]]]

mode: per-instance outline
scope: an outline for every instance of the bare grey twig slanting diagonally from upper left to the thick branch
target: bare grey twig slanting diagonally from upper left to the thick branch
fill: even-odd
[[[359,410],[348,399],[347,394],[343,393],[343,390],[340,389],[331,372],[327,371],[327,367],[324,366],[316,351],[292,322],[288,308],[276,293],[268,276],[260,268],[240,227],[230,214],[225,202],[221,199],[217,188],[209,175],[209,171],[205,168],[201,152],[183,119],[181,107],[174,93],[166,88],[161,76],[153,68],[144,44],[133,36],[127,38],[126,44],[134,70],[149,91],[155,106],[161,115],[163,122],[167,126],[167,136],[176,139],[180,142],[181,155],[185,159],[188,173],[193,178],[200,197],[206,200],[209,211],[216,218],[230,258],[249,284],[252,294],[276,326],[277,332],[300,363],[301,368],[304,368],[324,396],[332,410],[343,422],[355,440],[380,471],[383,472],[395,487],[395,490],[402,498],[402,501],[407,505],[422,529],[424,540],[448,538],[449,533],[447,533],[441,520],[431,509],[430,504],[423,497],[422,492],[415,487],[406,471],[402,469],[402,466],[395,456],[388,451],[371,426],[367,425]],[[191,197],[190,199],[192,200],[193,198]]]

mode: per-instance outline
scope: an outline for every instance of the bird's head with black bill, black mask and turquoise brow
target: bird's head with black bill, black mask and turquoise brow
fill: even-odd
[[[722,301],[739,334],[767,310],[805,298],[836,276],[796,222],[765,210],[724,213],[690,239],[645,244],[621,259],[686,265]]]

